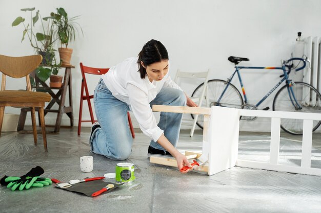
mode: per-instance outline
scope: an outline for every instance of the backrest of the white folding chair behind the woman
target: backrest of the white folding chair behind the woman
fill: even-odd
[[[196,104],[200,105],[202,103],[205,92],[207,91],[207,82],[210,70],[208,69],[206,72],[182,72],[179,69],[177,70],[174,81],[177,83],[179,78],[194,78],[194,79],[204,79],[204,87],[200,97],[193,97],[193,101]],[[206,96],[207,97],[207,96]]]

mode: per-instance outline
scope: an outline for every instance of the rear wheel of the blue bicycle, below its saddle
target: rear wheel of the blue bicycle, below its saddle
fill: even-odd
[[[227,90],[225,91],[223,97],[218,102],[220,95],[223,93],[225,87],[227,85],[227,81],[212,79],[208,81],[208,96],[205,93],[205,98],[202,103],[198,104],[199,107],[211,107],[211,106],[223,106],[223,107],[231,107],[242,109],[243,107],[243,99],[238,91],[238,89],[233,85],[229,84]],[[200,84],[194,92],[192,93],[193,97],[199,97],[202,94],[204,83]],[[194,119],[193,114],[191,114]],[[197,118],[197,126],[203,129],[203,121],[204,116],[202,114],[198,115]]]

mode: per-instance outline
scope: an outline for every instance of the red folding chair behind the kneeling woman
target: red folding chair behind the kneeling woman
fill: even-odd
[[[97,120],[94,120],[94,115],[92,113],[92,107],[90,102],[90,99],[92,99],[94,96],[93,94],[92,95],[89,94],[85,73],[92,74],[92,75],[103,75],[107,73],[109,70],[109,68],[93,68],[93,67],[84,66],[83,63],[80,63],[80,66],[81,66],[83,80],[82,80],[82,90],[81,90],[81,103],[79,107],[78,135],[81,134],[82,122],[91,122],[93,124],[94,122],[97,121]],[[84,89],[85,89],[85,94],[84,94]],[[82,120],[83,101],[85,100],[87,100],[87,103],[88,103],[90,120]],[[133,138],[135,138],[135,132],[134,132],[134,128],[131,122],[129,112],[127,112],[127,116],[128,116],[128,123],[129,123],[128,126],[130,128],[131,135]]]

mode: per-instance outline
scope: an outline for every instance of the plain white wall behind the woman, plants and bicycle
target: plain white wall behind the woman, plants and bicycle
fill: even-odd
[[[281,59],[290,58],[298,31],[303,36],[321,35],[319,0],[0,0],[0,54],[34,53],[28,40],[20,42],[22,26],[11,27],[17,16],[26,16],[20,9],[31,7],[36,7],[43,16],[57,7],[65,8],[69,16],[81,15],[77,22],[84,36],[70,44],[74,49],[71,62],[76,66],[72,71],[75,124],[81,88],[79,62],[110,67],[136,56],[153,38],[160,40],[169,52],[172,77],[177,68],[210,68],[210,78],[226,79],[233,70],[233,64],[227,60],[230,55],[250,58],[246,65],[278,66]],[[274,86],[280,73],[244,70],[243,74],[249,101],[256,103]],[[90,79],[91,90],[97,80]],[[238,82],[234,83],[238,86]],[[186,92],[191,94],[196,86],[188,86]],[[9,79],[7,88],[17,86]],[[262,108],[271,105],[269,98]],[[19,110],[7,107],[6,112],[19,113]],[[84,112],[83,116],[89,118],[89,113]],[[56,114],[46,115],[46,123],[54,124],[55,118]],[[261,123],[261,130],[269,128],[264,121]],[[69,125],[67,115],[63,117],[63,125]],[[248,122],[243,125],[241,129],[251,128]]]

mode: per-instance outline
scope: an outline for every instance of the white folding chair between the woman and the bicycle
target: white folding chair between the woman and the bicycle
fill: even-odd
[[[176,76],[175,76],[175,83],[180,85],[181,81],[183,78],[185,79],[204,79],[204,86],[202,93],[199,97],[191,97],[191,99],[198,105],[200,106],[205,99],[205,97],[208,97],[208,87],[207,87],[207,82],[208,82],[208,74],[209,74],[209,69],[206,72],[182,72],[179,69],[177,70]],[[180,85],[181,86],[181,85]],[[182,87],[182,86],[181,86]],[[184,89],[183,89],[184,90]],[[205,100],[208,102],[208,100]],[[208,106],[208,104],[207,104]],[[191,125],[191,132],[190,132],[190,137],[193,137],[195,127],[196,127],[196,122],[198,119],[198,114],[194,114],[194,120],[186,120],[183,119],[183,125]]]

